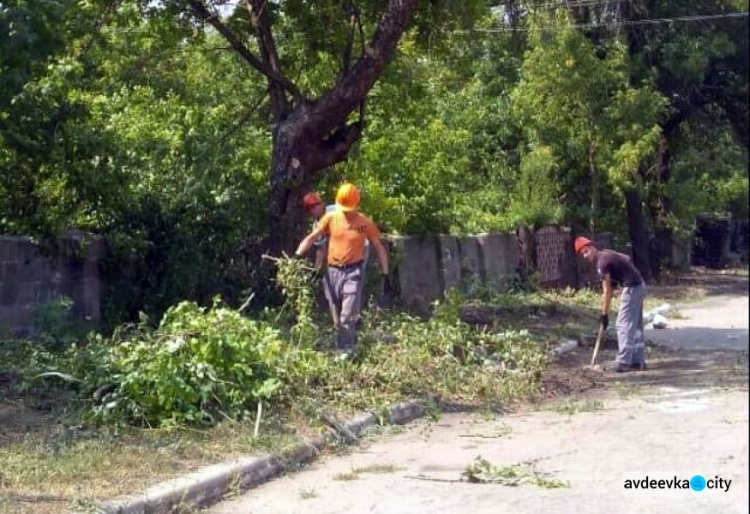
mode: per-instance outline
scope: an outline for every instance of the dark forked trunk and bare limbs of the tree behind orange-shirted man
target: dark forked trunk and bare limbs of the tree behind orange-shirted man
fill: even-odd
[[[213,3],[186,2],[199,19],[210,23],[268,81],[274,130],[266,246],[278,255],[281,251],[291,253],[305,232],[302,196],[312,184],[314,173],[346,159],[352,145],[359,140],[364,128],[365,98],[391,60],[419,0],[390,0],[357,62],[347,67],[334,86],[317,99],[308,99],[284,74],[266,4],[264,0],[245,4],[260,51],[258,56],[224,24]],[[359,121],[349,122],[349,115],[356,110],[360,112]]]

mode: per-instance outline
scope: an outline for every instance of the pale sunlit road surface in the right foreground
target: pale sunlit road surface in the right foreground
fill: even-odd
[[[591,349],[579,348],[550,368],[531,404],[391,429],[209,512],[746,513],[747,281],[712,284],[708,299],[680,312],[671,328],[648,332],[647,371],[585,369]],[[610,343],[600,362],[614,354]],[[506,479],[466,481],[478,456]],[[509,485],[513,470],[533,479]],[[626,480],[694,475],[731,483],[700,492],[625,488]]]

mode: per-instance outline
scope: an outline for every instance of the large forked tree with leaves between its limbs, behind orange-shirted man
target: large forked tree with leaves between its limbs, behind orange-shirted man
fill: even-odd
[[[337,0],[171,2],[212,26],[267,81],[273,145],[269,170],[272,251],[295,246],[305,226],[303,194],[317,173],[346,159],[364,129],[368,92],[410,23],[416,21],[420,28],[431,30],[432,22],[440,21],[438,13],[445,11],[438,9],[438,3],[427,3],[415,16],[419,0],[390,0],[385,5]],[[452,7],[467,13],[471,5],[455,2]],[[232,9],[231,16],[222,16],[229,12],[227,8]],[[450,10],[451,5],[441,8]],[[302,52],[295,60],[289,49],[299,42],[296,46]],[[327,87],[316,92],[316,85],[305,88],[294,74],[309,71],[299,61],[320,60],[320,55],[334,64],[323,77]]]

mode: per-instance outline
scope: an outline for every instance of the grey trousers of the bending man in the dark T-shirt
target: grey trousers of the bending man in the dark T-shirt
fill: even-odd
[[[646,337],[643,332],[643,300],[646,286],[626,287],[620,295],[617,314],[617,363],[637,366],[646,363]]]

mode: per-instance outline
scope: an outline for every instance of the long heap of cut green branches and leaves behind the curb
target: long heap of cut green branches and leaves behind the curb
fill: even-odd
[[[525,331],[477,331],[460,322],[463,300],[451,298],[429,321],[368,311],[353,362],[313,350],[325,334],[305,318],[287,332],[218,302],[182,302],[156,328],[144,318],[112,338],[91,335],[56,353],[19,341],[4,343],[0,354],[24,377],[23,390],[71,389],[89,419],[148,427],[242,419],[258,402],[303,412],[422,396],[495,405],[536,390],[544,349]]]

